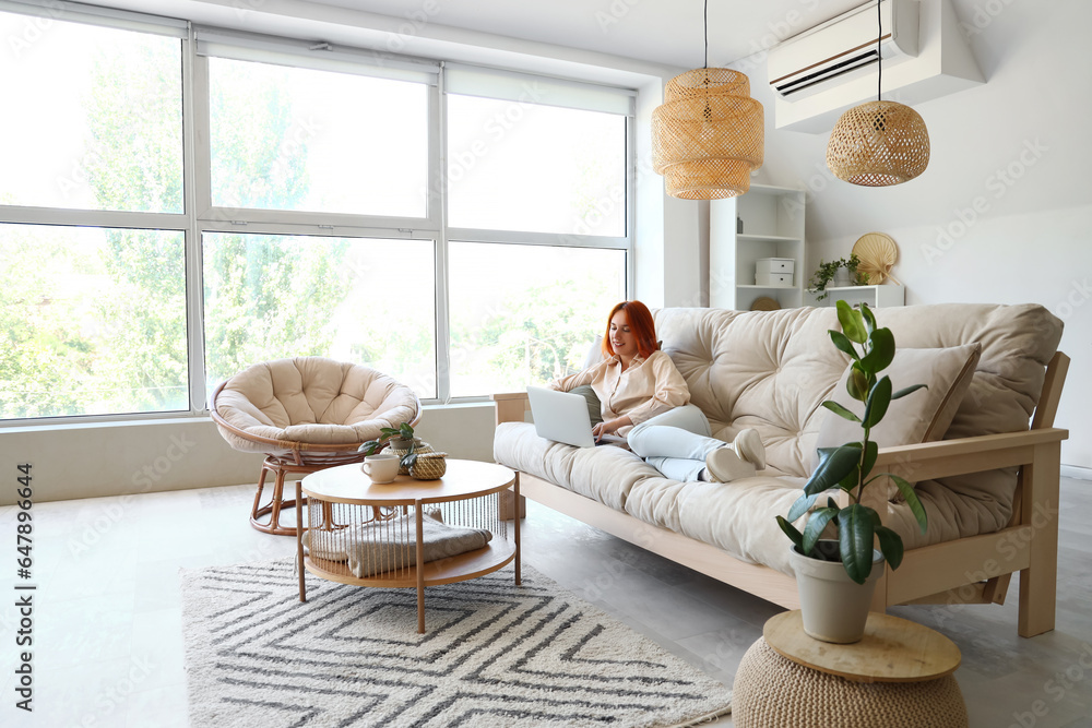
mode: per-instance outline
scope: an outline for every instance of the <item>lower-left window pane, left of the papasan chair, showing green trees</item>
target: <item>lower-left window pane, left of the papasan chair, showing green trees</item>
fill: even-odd
[[[182,234],[0,225],[0,416],[189,409]]]

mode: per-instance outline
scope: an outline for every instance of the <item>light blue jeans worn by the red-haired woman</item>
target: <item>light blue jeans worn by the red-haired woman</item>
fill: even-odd
[[[705,415],[695,405],[682,405],[656,415],[626,435],[629,449],[673,480],[699,480],[705,456],[728,443],[711,437]]]

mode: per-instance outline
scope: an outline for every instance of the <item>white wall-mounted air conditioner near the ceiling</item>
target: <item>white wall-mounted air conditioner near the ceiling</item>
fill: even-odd
[[[779,44],[770,50],[770,86],[795,102],[874,71],[880,55],[885,69],[917,56],[917,0],[880,2],[878,51],[876,20],[869,2]]]

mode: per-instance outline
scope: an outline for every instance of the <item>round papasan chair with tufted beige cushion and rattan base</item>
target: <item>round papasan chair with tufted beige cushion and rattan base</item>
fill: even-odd
[[[232,447],[265,453],[250,525],[278,536],[296,535],[294,525],[281,524],[282,511],[296,506],[295,498],[284,499],[285,475],[359,463],[364,453],[357,447],[379,439],[380,428],[420,419],[420,399],[405,384],[370,367],[325,357],[253,365],[221,383],[209,409]],[[263,504],[269,473],[273,493]]]

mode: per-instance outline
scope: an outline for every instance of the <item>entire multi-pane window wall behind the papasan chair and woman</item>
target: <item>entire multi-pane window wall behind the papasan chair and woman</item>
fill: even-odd
[[[312,355],[484,397],[627,296],[630,92],[49,5],[0,12],[0,420]]]

